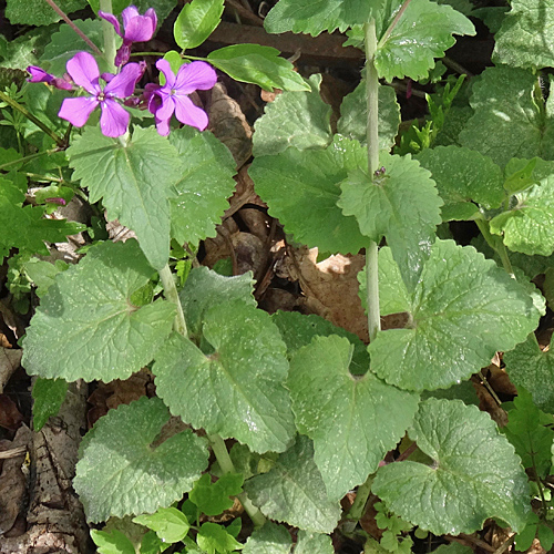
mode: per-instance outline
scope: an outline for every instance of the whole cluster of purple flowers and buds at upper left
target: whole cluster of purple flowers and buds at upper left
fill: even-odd
[[[161,135],[170,133],[170,121],[175,113],[176,119],[185,125],[191,125],[199,131],[207,127],[206,112],[196,106],[188,98],[196,90],[212,89],[217,75],[214,69],[201,61],[182,65],[177,74],[172,71],[166,60],[160,60],[156,68],[164,74],[165,84],[146,84],[141,98],[132,98],[136,83],[141,80],[146,64],[127,63],[133,42],[144,42],[152,39],[156,30],[157,18],[151,8],[144,16],[138,13],[134,6],[125,8],[122,12],[123,31],[119,20],[111,13],[99,11],[99,16],[109,21],[115,32],[123,39],[123,44],[115,54],[116,74],[103,73],[96,60],[89,52],[78,52],[66,63],[66,74],[59,79],[47,73],[41,68],[30,65],[27,71],[31,74],[29,82],[48,83],[57,89],[71,91],[74,86],[89,93],[88,96],[69,98],[62,102],[58,115],[76,127],[82,127],[95,107],[100,105],[100,129],[105,136],[121,136],[129,127],[130,114],[124,105],[142,103],[154,115],[157,132]],[[105,84],[101,84],[101,80]]]

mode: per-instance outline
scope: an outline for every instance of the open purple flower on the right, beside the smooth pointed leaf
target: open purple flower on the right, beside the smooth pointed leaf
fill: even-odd
[[[181,123],[204,131],[208,124],[206,112],[194,105],[188,95],[215,85],[217,75],[214,69],[206,62],[192,62],[182,65],[175,76],[167,60],[158,60],[156,68],[165,75],[163,86],[148,91],[148,110],[154,114],[157,132],[170,134],[173,112]]]

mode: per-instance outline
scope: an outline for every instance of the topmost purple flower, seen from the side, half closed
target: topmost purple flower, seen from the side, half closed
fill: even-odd
[[[121,12],[123,19],[123,28],[125,32],[121,32],[120,22],[112,13],[99,11],[99,16],[105,19],[115,28],[115,32],[123,39],[123,44],[115,53],[115,65],[119,68],[129,61],[131,55],[131,44],[133,42],[146,42],[152,39],[157,25],[157,17],[154,8],[146,10],[144,16],[138,13],[135,6],[130,6]]]

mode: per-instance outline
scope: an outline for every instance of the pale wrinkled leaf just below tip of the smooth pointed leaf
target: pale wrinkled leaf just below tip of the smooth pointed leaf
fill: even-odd
[[[254,156],[270,156],[289,146],[298,150],[325,148],[332,141],[331,106],[319,94],[321,75],[308,79],[309,92],[284,92],[265,107],[256,120]]]

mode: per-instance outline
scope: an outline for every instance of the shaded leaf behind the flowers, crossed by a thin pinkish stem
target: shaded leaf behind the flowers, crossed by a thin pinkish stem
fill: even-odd
[[[102,21],[100,19],[75,20],[73,23],[100,49],[103,47]],[[60,25],[58,32],[52,34],[52,40],[44,53],[40,57],[41,64],[48,69],[49,73],[57,76],[62,76],[65,73],[65,64],[78,52],[90,52],[96,57],[91,47],[81,38],[75,34],[75,31],[70,25],[63,23]],[[107,63],[100,57],[96,61],[102,68],[101,71],[107,71]]]

